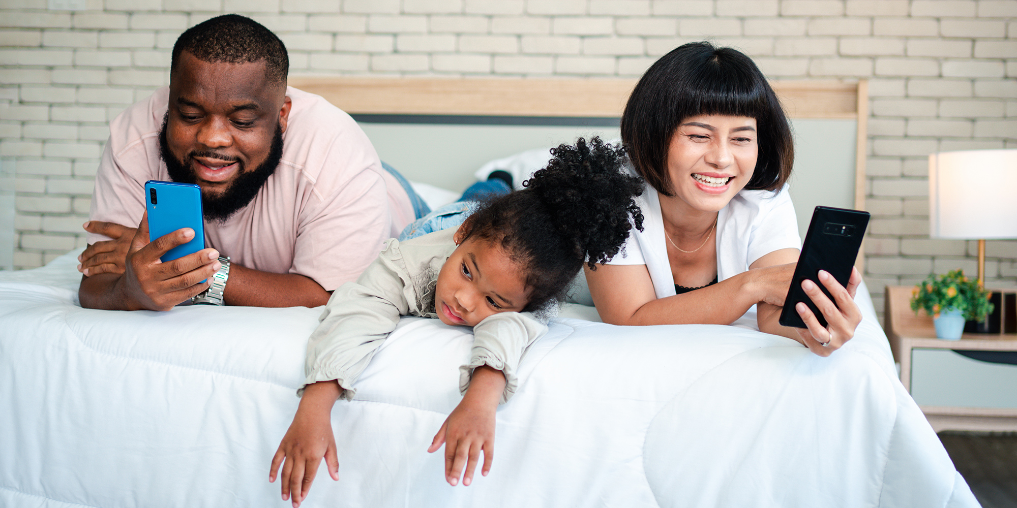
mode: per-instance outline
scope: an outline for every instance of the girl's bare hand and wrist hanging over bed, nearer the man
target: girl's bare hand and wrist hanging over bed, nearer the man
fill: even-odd
[[[321,457],[328,464],[332,479],[339,480],[336,437],[332,433],[332,406],[342,392],[336,381],[307,385],[290,430],[286,431],[276,456],[272,458],[268,482],[276,481],[276,472],[285,459],[281,482],[283,501],[292,496],[294,507],[300,506],[307,497]]]

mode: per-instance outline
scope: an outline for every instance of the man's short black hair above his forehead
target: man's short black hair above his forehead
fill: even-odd
[[[223,14],[187,28],[173,45],[170,74],[186,51],[202,62],[247,63],[264,60],[270,82],[286,84],[290,57],[268,28],[239,14]]]

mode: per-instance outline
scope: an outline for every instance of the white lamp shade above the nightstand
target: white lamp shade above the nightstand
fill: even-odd
[[[929,236],[1017,238],[1017,149],[929,155]]]

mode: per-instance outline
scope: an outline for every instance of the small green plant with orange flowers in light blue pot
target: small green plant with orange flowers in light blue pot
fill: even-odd
[[[911,310],[918,309],[933,316],[936,336],[957,340],[964,331],[964,321],[983,321],[993,312],[991,293],[975,280],[964,276],[964,270],[951,270],[946,275],[930,273],[911,292]]]

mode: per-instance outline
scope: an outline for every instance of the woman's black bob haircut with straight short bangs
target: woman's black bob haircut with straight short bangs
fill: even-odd
[[[780,190],[791,175],[791,127],[770,83],[743,53],[707,42],[689,43],[643,74],[621,115],[621,139],[636,171],[672,196],[667,152],[678,125],[699,115],[756,119],[759,158],[749,190]]]

